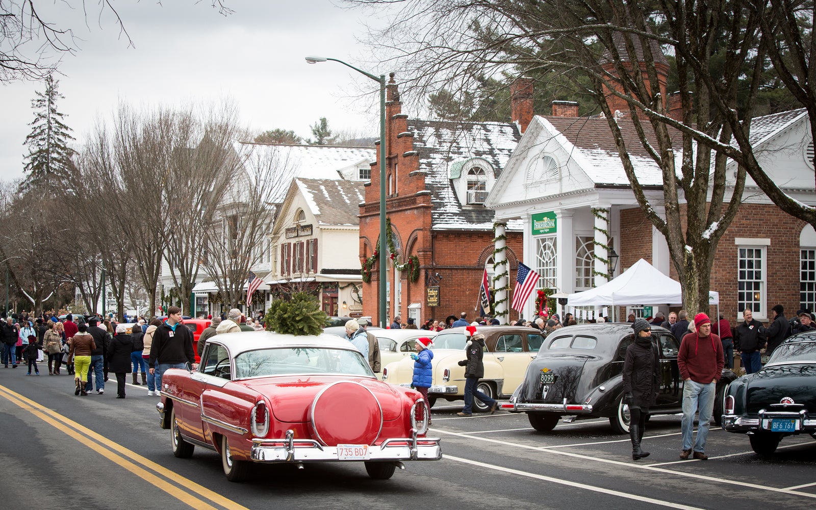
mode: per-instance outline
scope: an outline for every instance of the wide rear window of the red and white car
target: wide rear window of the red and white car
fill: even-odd
[[[233,379],[286,374],[343,374],[374,377],[357,351],[339,348],[265,348],[235,357]]]

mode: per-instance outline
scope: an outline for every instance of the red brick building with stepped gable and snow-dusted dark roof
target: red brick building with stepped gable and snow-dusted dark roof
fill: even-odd
[[[402,113],[393,75],[387,88],[386,210],[394,259],[388,264],[388,309],[406,322],[468,312],[475,317],[481,276],[494,268],[494,211],[484,206],[521,137],[516,123],[442,122]],[[531,114],[531,112],[530,112]],[[360,204],[360,259],[374,255],[379,239],[379,162]],[[499,233],[501,233],[500,227]],[[507,225],[512,277],[521,253],[521,223]],[[418,273],[409,260],[416,257]],[[389,257],[389,260],[390,257]],[[379,262],[371,259],[363,283],[363,314],[379,323]],[[413,262],[411,262],[413,264]],[[399,270],[402,268],[402,270]],[[417,278],[414,281],[413,275]],[[428,305],[438,287],[438,306]]]

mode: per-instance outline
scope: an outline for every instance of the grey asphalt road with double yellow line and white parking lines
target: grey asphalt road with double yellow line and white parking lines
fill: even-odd
[[[677,458],[680,417],[646,426],[648,459],[632,461],[628,437],[607,420],[534,432],[526,415],[455,415],[439,401],[431,435],[444,459],[406,463],[373,481],[361,463],[256,466],[252,481],[226,480],[219,455],[176,459],[157,424],[157,397],[116,384],[73,396],[73,377],[0,368],[0,508],[813,508],[816,441],[787,437],[773,457],[712,425],[707,461]],[[63,370],[63,374],[64,374]],[[113,383],[113,384],[112,384]]]

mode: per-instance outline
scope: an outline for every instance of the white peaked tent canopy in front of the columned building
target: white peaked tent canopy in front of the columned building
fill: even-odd
[[[709,304],[720,304],[720,294],[708,293]],[[567,295],[570,306],[616,306],[626,304],[681,304],[680,282],[660,273],[644,259],[602,286]]]

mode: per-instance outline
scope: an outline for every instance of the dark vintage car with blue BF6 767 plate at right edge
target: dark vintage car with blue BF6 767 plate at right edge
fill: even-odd
[[[816,439],[816,331],[783,341],[762,370],[730,384],[723,406],[723,428],[747,434],[760,455],[786,436]]]

